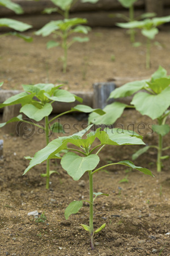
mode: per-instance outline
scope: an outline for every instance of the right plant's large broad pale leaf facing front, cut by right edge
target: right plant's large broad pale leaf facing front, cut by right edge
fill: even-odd
[[[148,115],[153,120],[160,117],[170,106],[170,87],[165,88],[160,94],[140,92],[135,94],[131,104],[142,114]]]

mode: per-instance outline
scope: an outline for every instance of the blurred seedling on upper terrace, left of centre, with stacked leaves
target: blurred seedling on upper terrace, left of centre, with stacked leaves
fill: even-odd
[[[71,38],[71,40],[69,40],[70,36],[75,33],[88,34],[88,31],[90,31],[90,27],[83,26],[82,24],[84,23],[87,23],[87,20],[82,18],[50,21],[35,33],[36,35],[42,36],[48,36],[53,33],[57,38],[59,37],[61,39],[61,43],[56,41],[49,41],[46,44],[46,47],[48,49],[57,46],[62,47],[64,52],[64,55],[62,57],[63,73],[66,73],[67,51],[72,46],[72,44],[75,42],[83,43],[89,41],[88,37],[82,38],[80,36],[74,36],[73,38]]]

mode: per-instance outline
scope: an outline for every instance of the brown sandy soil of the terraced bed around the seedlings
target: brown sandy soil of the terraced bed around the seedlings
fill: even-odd
[[[137,38],[143,40],[141,35]],[[32,44],[18,38],[1,39],[1,80],[3,88],[22,89],[21,84],[38,82],[68,82],[69,89],[92,90],[92,83],[105,81],[114,76],[150,76],[159,64],[169,72],[169,32],[160,32],[157,39],[162,46],[152,47],[152,66],[145,69],[145,48],[132,48],[129,38],[122,30],[95,29],[90,34],[90,43],[76,44],[70,49],[69,71],[63,75],[60,52],[46,51],[46,38],[35,38]],[[109,46],[109,47],[108,47]],[[111,61],[111,55],[116,60]],[[86,59],[87,57],[87,59]],[[73,61],[71,61],[73,60]],[[87,64],[84,64],[87,60]],[[85,62],[84,62],[85,61]],[[86,67],[86,80],[83,68]],[[87,123],[82,115],[68,115],[61,123],[69,123],[70,134],[73,125],[78,129]],[[1,120],[2,122],[2,117]],[[43,123],[43,121],[41,122]],[[144,133],[146,144],[157,144],[156,134],[150,125],[155,123],[135,110],[125,110],[114,127],[124,125]],[[167,119],[170,124],[170,118]],[[143,125],[141,125],[143,124]],[[144,127],[144,129],[140,129]],[[94,226],[104,222],[106,228],[95,235],[95,251],[90,248],[88,233],[80,224],[88,225],[89,205],[84,203],[78,214],[65,220],[64,211],[73,200],[88,200],[88,175],[74,181],[59,163],[51,161],[51,169],[58,171],[51,176],[50,189],[45,189],[45,163],[36,166],[22,176],[29,161],[24,156],[33,156],[45,146],[44,134],[34,127],[28,127],[25,134],[16,137],[0,130],[4,141],[3,159],[0,164],[0,254],[13,256],[169,256],[170,255],[170,172],[169,159],[164,160],[163,171],[156,172],[156,151],[150,150],[137,160],[136,166],[149,168],[155,177],[141,172],[127,170],[122,166],[109,167],[94,175],[94,191],[109,193],[108,197],[97,197],[94,207]],[[50,140],[56,138],[52,134]],[[164,146],[170,144],[169,135]],[[100,152],[100,164],[109,161],[129,159],[140,146],[108,146]],[[169,154],[169,151],[166,152]],[[126,178],[126,182],[121,182]],[[81,181],[81,183],[80,183]],[[28,216],[37,210],[39,217]],[[41,214],[46,216],[41,221]]]

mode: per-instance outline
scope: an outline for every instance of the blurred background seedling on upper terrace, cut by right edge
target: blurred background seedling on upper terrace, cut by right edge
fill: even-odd
[[[154,40],[156,34],[159,33],[158,26],[170,22],[170,15],[161,17],[161,18],[153,18],[153,19],[145,19],[142,21],[133,21],[128,23],[117,23],[119,27],[122,28],[140,28],[143,36],[147,38],[147,49],[146,49],[146,68],[150,68],[150,48],[151,48],[151,40]]]

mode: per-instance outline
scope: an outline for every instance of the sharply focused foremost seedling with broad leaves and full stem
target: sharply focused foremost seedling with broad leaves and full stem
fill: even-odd
[[[92,126],[92,125],[91,125]],[[67,173],[73,177],[74,180],[79,180],[85,172],[88,172],[89,175],[89,184],[90,184],[90,199],[89,200],[81,200],[81,201],[73,201],[69,204],[69,206],[65,210],[65,218],[66,220],[69,218],[71,214],[75,214],[79,211],[80,208],[83,207],[83,201],[87,201],[90,204],[90,220],[89,225],[81,224],[81,226],[90,234],[90,242],[91,242],[91,249],[94,250],[94,235],[100,232],[102,229],[105,228],[105,223],[94,230],[94,201],[97,196],[108,196],[108,194],[103,192],[94,192],[93,189],[93,176],[98,171],[108,166],[122,164],[124,166],[128,166],[134,168],[138,171],[143,172],[144,174],[153,176],[151,171],[135,166],[129,160],[123,160],[117,163],[110,163],[102,167],[98,167],[100,162],[99,152],[106,146],[106,145],[131,145],[131,144],[145,144],[142,142],[142,137],[138,134],[134,133],[131,134],[131,131],[122,130],[118,131],[117,129],[104,129],[101,131],[97,129],[94,132],[91,132],[86,135],[85,139],[82,139],[83,135],[87,133],[87,131],[91,128],[88,126],[86,129],[79,131],[79,133],[73,134],[68,137],[60,137],[55,139],[54,141],[50,142],[48,146],[40,150],[35,154],[32,158],[29,166],[24,171],[26,174],[33,166],[36,164],[44,162],[46,159],[56,158],[56,155],[61,150],[67,150],[65,155],[61,158],[61,166]],[[93,143],[97,139],[98,144],[97,146],[93,146]],[[67,144],[70,143],[76,146],[75,148],[68,147]],[[95,143],[96,145],[96,143]],[[97,150],[96,153],[94,153]],[[73,152],[74,151],[74,152]],[[77,152],[78,154],[75,154]]]

